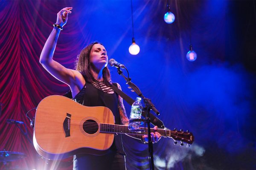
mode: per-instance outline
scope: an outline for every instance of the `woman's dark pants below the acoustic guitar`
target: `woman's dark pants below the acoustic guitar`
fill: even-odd
[[[103,156],[79,154],[74,156],[73,170],[126,170],[125,156],[112,150]]]

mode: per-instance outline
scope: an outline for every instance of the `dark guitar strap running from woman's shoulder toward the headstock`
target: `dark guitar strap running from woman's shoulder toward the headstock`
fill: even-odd
[[[125,94],[123,91],[121,91],[117,87],[117,83],[112,83],[111,88],[119,95],[121,96],[129,105],[132,105],[134,103],[134,99],[132,99],[130,96]],[[145,111],[142,111],[142,116],[146,117]],[[156,116],[154,116],[152,113],[149,113],[149,117],[151,120],[151,123],[159,128],[164,128],[165,126],[163,125],[163,122],[158,119]]]

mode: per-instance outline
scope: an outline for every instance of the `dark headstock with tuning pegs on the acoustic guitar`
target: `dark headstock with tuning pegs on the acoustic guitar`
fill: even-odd
[[[194,136],[191,132],[188,130],[184,132],[182,129],[177,130],[176,128],[174,130],[170,130],[170,136],[175,142],[174,144],[177,144],[177,141],[180,141],[180,146],[183,146],[183,142],[187,143],[187,147],[189,147],[189,144],[192,144],[194,142]]]

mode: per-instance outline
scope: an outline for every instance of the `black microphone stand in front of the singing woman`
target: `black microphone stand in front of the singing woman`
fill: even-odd
[[[128,72],[128,70],[125,68],[125,70]],[[151,130],[150,130],[150,116],[149,116],[149,111],[152,110],[154,113],[159,115],[159,111],[154,107],[153,103],[151,102],[151,99],[145,98],[143,96],[142,92],[140,89],[133,83],[131,82],[131,78],[125,77],[122,74],[122,71],[120,70],[120,67],[117,68],[117,73],[121,75],[122,77],[125,78],[126,84],[128,84],[134,91],[135,93],[143,98],[143,101],[145,103],[145,108],[143,110],[146,112],[146,117],[145,117],[145,123],[147,123],[148,126],[148,161],[149,161],[149,168],[150,170],[154,170],[154,158],[153,158],[153,142],[151,141]],[[128,73],[129,75],[129,73]]]

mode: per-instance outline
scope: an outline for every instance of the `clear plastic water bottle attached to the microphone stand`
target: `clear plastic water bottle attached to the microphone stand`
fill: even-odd
[[[142,104],[141,104],[141,98],[137,97],[136,101],[131,106],[131,114],[130,114],[130,120],[132,119],[140,119],[142,113]],[[141,122],[131,122],[128,125],[129,130],[136,130],[139,128]]]

